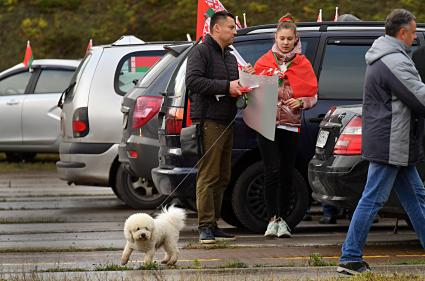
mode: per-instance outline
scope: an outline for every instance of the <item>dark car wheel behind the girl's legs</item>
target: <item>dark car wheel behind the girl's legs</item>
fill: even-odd
[[[285,221],[293,229],[302,220],[309,205],[309,189],[298,170],[294,170],[293,185],[288,195]],[[268,218],[262,162],[252,164],[241,173],[233,189],[232,207],[238,220],[248,230],[256,233],[265,231]]]

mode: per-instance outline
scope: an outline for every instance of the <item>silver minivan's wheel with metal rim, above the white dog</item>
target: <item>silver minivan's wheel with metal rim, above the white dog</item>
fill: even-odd
[[[115,186],[118,198],[134,209],[155,209],[167,198],[151,181],[130,175],[123,165],[118,167]]]

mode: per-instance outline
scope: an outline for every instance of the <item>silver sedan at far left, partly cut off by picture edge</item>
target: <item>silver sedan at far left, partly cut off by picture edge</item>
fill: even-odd
[[[0,73],[0,151],[7,160],[32,160],[37,152],[58,152],[60,108],[78,60],[34,60]]]

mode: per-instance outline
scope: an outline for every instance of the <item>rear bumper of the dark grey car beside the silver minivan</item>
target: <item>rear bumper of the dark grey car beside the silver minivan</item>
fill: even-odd
[[[130,157],[130,151],[137,152],[137,157]],[[151,179],[152,168],[158,166],[158,151],[158,139],[130,136],[118,147],[119,161],[133,176]]]

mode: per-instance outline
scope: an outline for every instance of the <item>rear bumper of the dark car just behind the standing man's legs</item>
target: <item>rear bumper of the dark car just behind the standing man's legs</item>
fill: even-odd
[[[196,197],[196,169],[173,168],[152,169],[152,180],[163,195],[174,195],[179,198]]]

